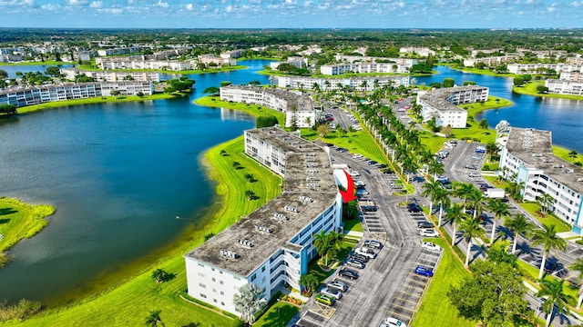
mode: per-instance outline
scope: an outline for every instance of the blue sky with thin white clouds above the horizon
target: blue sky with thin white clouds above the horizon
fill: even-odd
[[[0,27],[583,27],[583,0],[0,0]]]

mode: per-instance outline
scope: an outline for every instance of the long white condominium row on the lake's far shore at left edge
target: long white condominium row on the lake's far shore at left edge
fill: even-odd
[[[0,92],[0,104],[14,104],[16,107],[21,107],[54,101],[109,96],[114,90],[122,95],[136,95],[140,92],[149,95],[154,93],[154,86],[151,82],[96,82],[10,88]]]

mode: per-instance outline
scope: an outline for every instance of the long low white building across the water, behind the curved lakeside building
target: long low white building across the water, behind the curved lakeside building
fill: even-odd
[[[341,90],[349,87],[355,91],[371,91],[375,87],[382,88],[384,85],[394,87],[403,85],[409,86],[409,76],[363,76],[347,78],[323,78],[323,77],[304,77],[304,76],[278,76],[278,86],[281,88],[311,90],[313,85],[317,84],[322,91]]]

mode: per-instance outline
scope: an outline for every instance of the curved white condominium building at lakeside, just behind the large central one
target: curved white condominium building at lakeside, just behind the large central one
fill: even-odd
[[[312,98],[276,88],[228,85],[220,88],[220,100],[242,104],[260,104],[285,114],[285,126],[311,127],[317,108]]]

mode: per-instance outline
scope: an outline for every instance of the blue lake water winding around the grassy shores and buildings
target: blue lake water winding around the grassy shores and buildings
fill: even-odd
[[[257,74],[268,61],[241,64],[249,68],[190,75],[195,90],[186,98],[67,106],[0,121],[0,196],[57,209],[45,230],[12,249],[14,262],[0,270],[0,299],[63,299],[196,228],[214,194],[200,155],[252,128],[254,118],[192,101],[223,81],[269,84]],[[2,69],[8,67],[31,66]],[[511,79],[437,69],[440,74],[418,83],[452,77],[489,86],[491,94],[515,102],[484,113],[491,125],[506,119],[548,129],[556,144],[583,153],[578,102],[541,101],[512,94]]]

